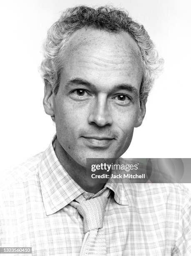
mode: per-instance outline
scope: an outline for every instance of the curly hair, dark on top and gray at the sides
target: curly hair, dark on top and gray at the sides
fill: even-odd
[[[110,33],[126,31],[136,41],[144,67],[139,97],[141,103],[146,103],[154,79],[162,67],[163,59],[158,58],[154,44],[143,25],[133,21],[128,13],[108,6],[90,8],[80,5],[68,8],[50,27],[44,44],[44,59],[40,66],[45,84],[50,84],[56,95],[60,83],[60,70],[63,67],[60,52],[65,48],[70,36],[84,27]]]

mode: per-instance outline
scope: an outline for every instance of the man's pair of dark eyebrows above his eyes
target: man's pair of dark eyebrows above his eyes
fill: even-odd
[[[70,86],[74,86],[74,85],[85,85],[85,86],[88,86],[88,87],[96,90],[96,86],[94,84],[92,84],[84,79],[78,78],[78,77],[68,80],[65,84],[65,87],[70,87]],[[114,86],[113,90],[126,90],[128,92],[133,93],[136,97],[138,97],[138,95],[139,95],[136,87],[132,86],[131,84],[126,84],[126,83],[118,84],[118,85]]]

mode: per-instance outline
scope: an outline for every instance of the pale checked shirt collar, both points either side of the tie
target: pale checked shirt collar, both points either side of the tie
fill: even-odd
[[[38,165],[40,188],[47,215],[57,212],[84,193],[60,164],[53,148],[55,138],[56,135],[43,152]],[[114,192],[114,199],[118,204],[128,205],[129,197],[123,182],[113,183],[109,180],[105,187]]]

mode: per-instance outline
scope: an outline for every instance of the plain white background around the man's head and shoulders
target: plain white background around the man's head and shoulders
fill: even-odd
[[[9,0],[0,6],[1,169],[47,148],[55,127],[43,110],[38,73],[42,43],[62,10],[113,4],[143,23],[165,64],[146,117],[123,157],[190,158],[191,20],[189,0]],[[191,187],[191,186],[190,186]]]

